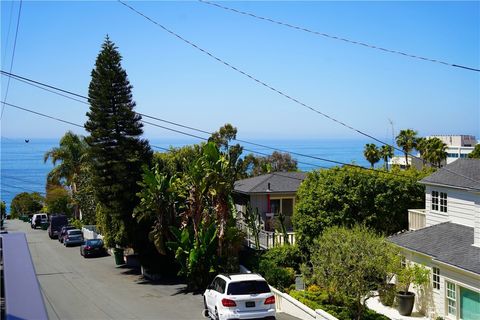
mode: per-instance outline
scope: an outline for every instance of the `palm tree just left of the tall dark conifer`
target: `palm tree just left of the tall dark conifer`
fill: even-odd
[[[60,184],[62,181],[70,187],[72,194],[77,192],[77,178],[80,175],[82,165],[86,163],[88,145],[83,136],[76,135],[71,131],[65,133],[60,139],[59,147],[47,151],[43,161],[52,160],[55,167],[47,177],[47,183]],[[57,165],[57,162],[60,162]],[[75,205],[75,217],[80,217],[78,205]]]

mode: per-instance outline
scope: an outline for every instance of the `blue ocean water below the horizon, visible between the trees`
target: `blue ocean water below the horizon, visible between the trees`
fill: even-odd
[[[366,140],[360,139],[303,139],[303,140],[249,140],[276,149],[288,150],[298,154],[326,158],[343,163],[355,163],[369,166],[363,157]],[[193,139],[152,139],[152,145],[168,148],[197,143]],[[45,152],[58,146],[58,139],[1,139],[1,200],[10,202],[21,192],[39,192],[45,194],[45,181],[48,172],[53,168],[49,161],[44,163]],[[273,150],[252,145],[244,145],[248,150],[271,154]],[[155,150],[155,148],[153,148]],[[245,151],[249,153],[249,151]],[[319,167],[332,167],[334,163],[292,155],[298,161],[302,171],[310,171]]]

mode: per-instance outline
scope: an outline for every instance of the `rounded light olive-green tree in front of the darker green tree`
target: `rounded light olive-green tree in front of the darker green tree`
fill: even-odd
[[[340,294],[352,300],[357,319],[371,290],[399,262],[398,249],[364,226],[328,228],[312,247],[313,280],[332,299]]]

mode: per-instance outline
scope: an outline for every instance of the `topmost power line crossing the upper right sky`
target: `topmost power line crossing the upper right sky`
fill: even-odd
[[[274,20],[272,18],[262,17],[262,16],[259,16],[257,14],[251,13],[251,12],[241,11],[241,10],[238,10],[238,9],[235,9],[235,8],[227,7],[227,6],[224,6],[224,5],[221,5],[221,4],[218,4],[218,3],[214,3],[214,2],[210,2],[210,1],[198,0],[198,2],[203,3],[203,4],[208,4],[210,6],[218,7],[220,9],[224,9],[224,10],[227,10],[227,11],[235,12],[235,13],[238,13],[238,14],[241,14],[241,15],[249,16],[249,17],[252,17],[252,18],[255,18],[255,19],[271,22],[271,23],[281,25],[281,26],[284,26],[284,27],[288,27],[288,28],[291,28],[291,29],[308,32],[310,34],[314,34],[314,35],[317,35],[317,36],[322,36],[322,37],[333,39],[333,40],[347,42],[347,43],[350,43],[350,44],[353,44],[353,45],[363,46],[363,47],[366,47],[366,48],[375,49],[375,50],[382,51],[382,52],[393,53],[393,54],[401,55],[401,56],[404,56],[404,57],[407,57],[407,58],[413,58],[413,59],[417,59],[417,60],[434,62],[434,63],[442,64],[442,65],[445,65],[445,66],[449,66],[449,67],[461,68],[461,69],[466,69],[466,70],[470,70],[470,71],[480,72],[480,69],[478,69],[478,68],[472,68],[472,67],[467,67],[467,66],[464,66],[464,65],[453,64],[453,63],[450,63],[450,62],[445,62],[445,61],[438,60],[438,59],[427,58],[427,57],[423,57],[423,56],[419,56],[419,55],[415,55],[415,54],[411,54],[411,53],[402,52],[402,51],[399,51],[399,50],[387,49],[387,48],[383,48],[383,47],[376,46],[376,45],[373,45],[373,44],[369,44],[369,43],[366,43],[366,42],[351,40],[351,39],[343,38],[343,37],[340,37],[340,36],[335,36],[335,35],[331,35],[331,34],[328,34],[328,33],[315,31],[315,30],[308,29],[308,28],[305,28],[305,27],[300,27],[300,26],[293,25],[293,24],[290,24],[290,23],[287,23],[287,22]]]

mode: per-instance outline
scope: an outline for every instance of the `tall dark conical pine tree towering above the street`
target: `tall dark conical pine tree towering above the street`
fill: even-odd
[[[134,112],[132,86],[122,57],[108,36],[92,70],[85,128],[90,145],[98,223],[108,245],[139,245],[139,226],[132,216],[139,200],[142,166],[152,152],[141,139],[141,116]],[[145,234],[144,234],[145,235]],[[143,242],[140,240],[140,242]]]

